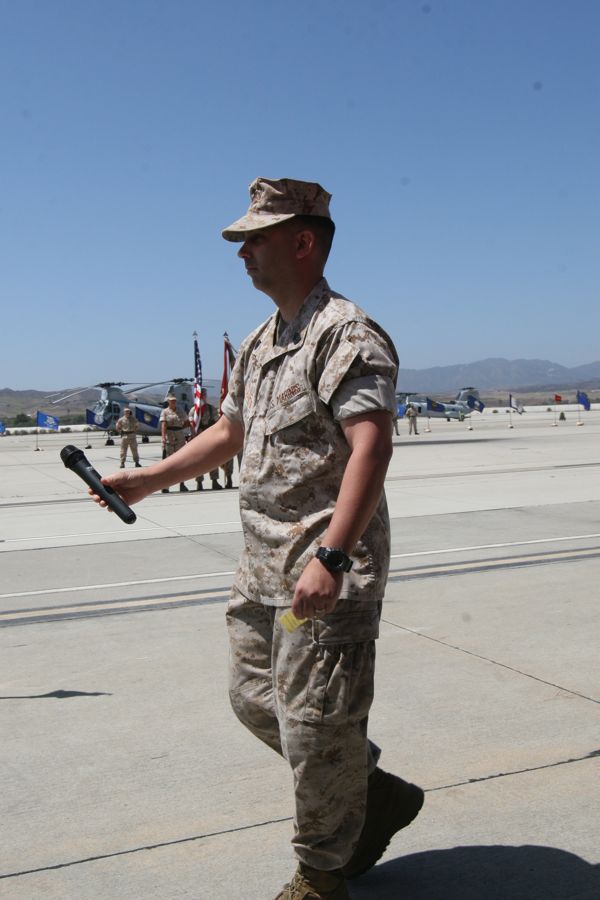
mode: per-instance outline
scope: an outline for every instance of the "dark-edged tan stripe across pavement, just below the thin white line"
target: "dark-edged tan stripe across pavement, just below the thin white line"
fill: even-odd
[[[433,566],[416,566],[412,569],[392,571],[389,581],[409,581],[415,578],[432,578],[450,575],[467,575],[497,569],[514,569],[557,562],[577,562],[581,559],[600,559],[600,547],[579,550],[555,550],[547,553],[527,553],[521,556],[471,560],[469,562],[440,563]],[[70,590],[74,590],[71,588]],[[34,593],[34,592],[32,592]],[[0,613],[0,627],[56,622],[61,619],[83,619],[133,612],[173,609],[183,606],[203,606],[224,603],[230,594],[229,587],[188,591],[172,595],[133,598],[131,600],[105,600],[90,603],[74,603],[56,607],[37,607],[26,610],[7,610]]]

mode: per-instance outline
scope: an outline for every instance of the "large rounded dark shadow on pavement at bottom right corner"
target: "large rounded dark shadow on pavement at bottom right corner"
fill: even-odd
[[[381,863],[352,900],[598,900],[600,865],[555,847],[453,847]]]

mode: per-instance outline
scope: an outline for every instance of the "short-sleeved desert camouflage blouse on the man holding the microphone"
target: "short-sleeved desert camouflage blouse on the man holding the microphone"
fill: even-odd
[[[350,456],[340,422],[396,413],[398,356],[358,306],[318,282],[296,319],[273,314],[242,344],[223,413],[243,425],[240,510],[245,550],[235,587],[289,606],[325,534]],[[390,554],[385,495],[351,556],[341,597],[377,604]]]

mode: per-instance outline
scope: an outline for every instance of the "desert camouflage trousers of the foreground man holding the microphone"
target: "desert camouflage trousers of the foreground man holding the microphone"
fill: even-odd
[[[301,862],[330,870],[350,859],[379,748],[367,740],[380,608],[340,601],[289,634],[286,608],[247,600],[227,609],[230,699],[240,721],[288,761]]]

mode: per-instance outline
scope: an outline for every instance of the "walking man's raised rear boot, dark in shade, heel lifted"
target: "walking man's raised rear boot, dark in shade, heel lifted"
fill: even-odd
[[[424,799],[416,784],[375,769],[369,775],[365,824],[356,850],[342,867],[344,877],[357,878],[374,866],[396,832],[418,816]]]

